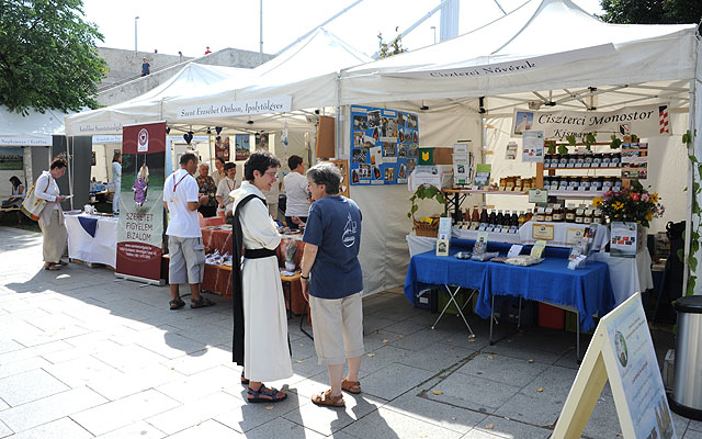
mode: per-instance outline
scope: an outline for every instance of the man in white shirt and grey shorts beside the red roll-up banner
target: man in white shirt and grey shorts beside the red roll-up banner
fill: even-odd
[[[192,176],[196,170],[197,156],[185,153],[180,158],[180,169],[163,183],[163,205],[169,212],[166,235],[170,256],[168,281],[171,285],[171,309],[185,306],[180,299],[181,283],[190,283],[191,308],[215,304],[200,294],[200,282],[205,270],[205,247],[202,244],[197,207],[206,203],[208,196],[200,196],[197,181]]]

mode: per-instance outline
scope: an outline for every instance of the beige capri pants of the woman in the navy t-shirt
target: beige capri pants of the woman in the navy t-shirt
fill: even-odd
[[[363,305],[361,293],[342,299],[309,296],[309,314],[319,364],[344,364],[361,357],[363,349]]]

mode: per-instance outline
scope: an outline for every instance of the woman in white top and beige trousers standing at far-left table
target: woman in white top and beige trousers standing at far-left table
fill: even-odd
[[[66,196],[60,194],[56,179],[64,177],[68,164],[63,156],[56,157],[48,168],[48,171],[42,171],[36,179],[34,193],[36,198],[46,200],[46,206],[39,214],[39,228],[44,237],[44,269],[59,270],[67,262],[61,261],[64,250],[66,250],[66,225],[64,224],[64,212],[61,211],[61,201]]]

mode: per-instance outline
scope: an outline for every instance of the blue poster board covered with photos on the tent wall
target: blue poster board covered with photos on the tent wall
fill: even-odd
[[[419,158],[419,117],[351,106],[351,184],[405,184]]]

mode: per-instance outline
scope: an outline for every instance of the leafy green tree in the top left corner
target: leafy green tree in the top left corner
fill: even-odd
[[[97,108],[97,83],[107,66],[102,34],[83,21],[81,0],[0,0],[0,104],[79,111]]]

